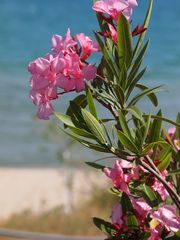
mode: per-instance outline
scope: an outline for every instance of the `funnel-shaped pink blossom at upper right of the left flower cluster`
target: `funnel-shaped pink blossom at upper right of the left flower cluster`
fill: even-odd
[[[93,43],[93,40],[85,36],[84,33],[79,33],[76,35],[78,41],[80,42],[81,49],[82,49],[82,57],[81,60],[84,61],[86,58],[88,58],[92,52],[99,52],[100,47],[98,43]]]

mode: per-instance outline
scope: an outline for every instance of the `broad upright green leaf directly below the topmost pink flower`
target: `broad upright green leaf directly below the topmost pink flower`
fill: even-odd
[[[132,58],[132,33],[130,29],[130,23],[126,17],[121,14],[118,19],[117,24],[117,33],[118,33],[118,57],[120,67],[126,63],[127,68],[130,66]]]

